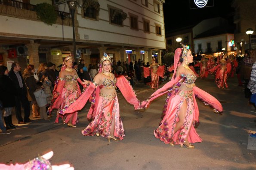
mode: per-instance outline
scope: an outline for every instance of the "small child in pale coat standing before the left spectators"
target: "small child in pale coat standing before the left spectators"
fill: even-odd
[[[46,113],[46,105],[47,105],[47,100],[49,96],[52,96],[51,94],[46,94],[44,89],[43,89],[43,84],[41,82],[37,82],[36,85],[37,89],[34,92],[34,95],[36,97],[37,104],[40,108],[40,117],[41,119],[49,120],[47,113]]]

